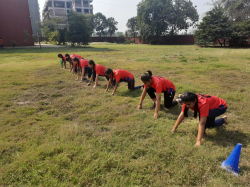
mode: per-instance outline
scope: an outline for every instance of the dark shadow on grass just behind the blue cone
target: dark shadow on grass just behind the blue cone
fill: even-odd
[[[246,134],[239,131],[229,131],[224,126],[216,128],[216,135],[211,136],[208,133],[206,140],[213,141],[223,147],[234,147],[237,143],[241,143],[243,147],[246,147],[250,143],[250,138]]]

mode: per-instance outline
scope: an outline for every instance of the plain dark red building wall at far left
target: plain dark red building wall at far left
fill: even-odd
[[[4,46],[11,46],[11,41],[16,46],[33,46],[32,26],[28,0],[0,0],[0,37]],[[24,31],[29,33],[25,40]]]

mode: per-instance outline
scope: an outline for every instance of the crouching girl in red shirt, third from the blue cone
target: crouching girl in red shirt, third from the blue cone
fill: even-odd
[[[124,69],[106,69],[105,70],[105,75],[108,77],[108,85],[107,85],[107,89],[105,91],[109,90],[109,86],[112,83],[112,85],[114,86],[113,92],[111,95],[115,94],[115,91],[118,87],[118,84],[120,82],[127,82],[128,83],[128,89],[129,90],[137,90],[140,89],[141,86],[137,86],[135,87],[135,79],[134,79],[134,75]]]

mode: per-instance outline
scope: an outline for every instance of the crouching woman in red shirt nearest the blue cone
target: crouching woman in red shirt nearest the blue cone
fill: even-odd
[[[197,118],[197,113],[199,113],[200,124],[195,146],[201,145],[201,140],[206,135],[205,131],[207,128],[219,127],[223,124],[227,125],[227,116],[215,120],[216,117],[224,114],[227,110],[226,101],[223,99],[192,92],[185,92],[180,98],[184,104],[172,132],[176,132],[179,124],[185,117],[188,117],[187,112],[189,109],[194,111],[194,118]]]

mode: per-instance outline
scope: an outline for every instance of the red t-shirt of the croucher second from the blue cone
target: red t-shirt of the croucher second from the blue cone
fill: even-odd
[[[149,86],[154,88],[156,90],[156,93],[162,93],[162,92],[172,93],[175,91],[174,84],[166,78],[159,76],[152,76],[152,81],[153,84]],[[146,87],[147,86],[145,85],[144,88]]]

